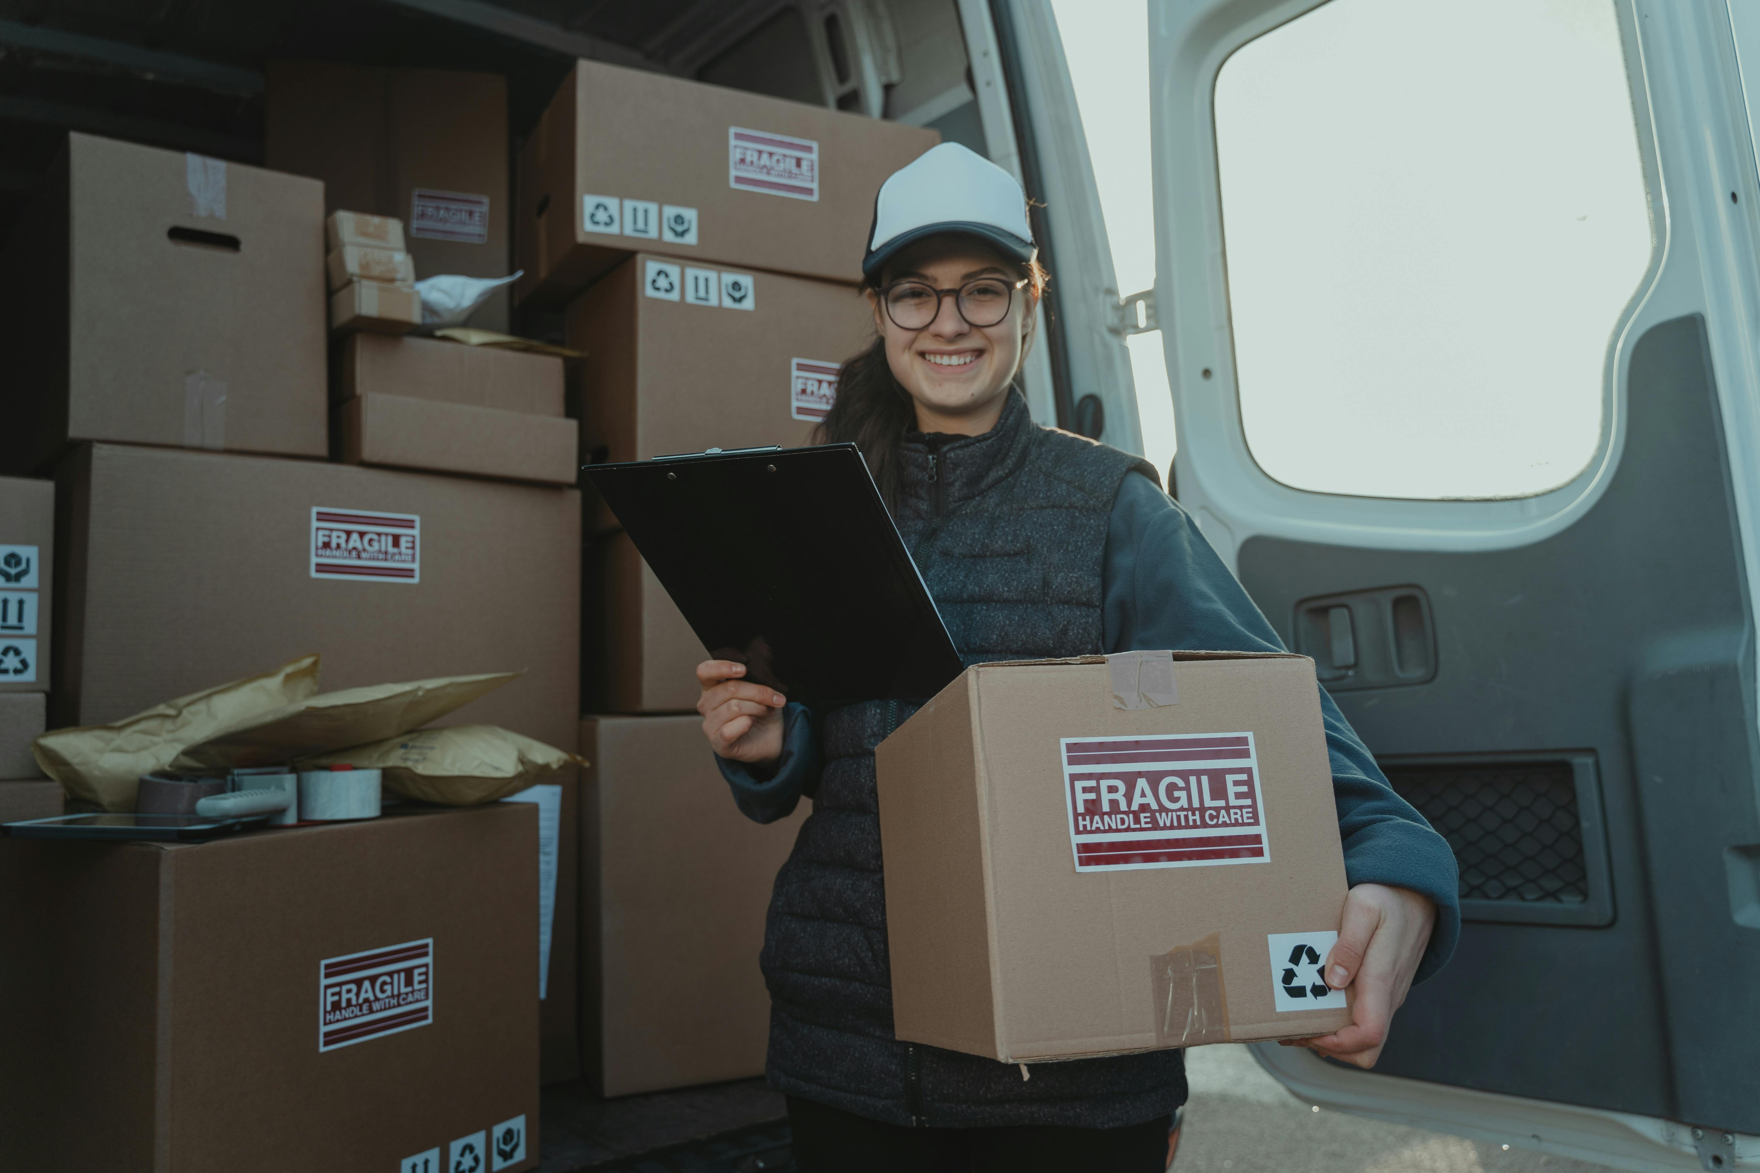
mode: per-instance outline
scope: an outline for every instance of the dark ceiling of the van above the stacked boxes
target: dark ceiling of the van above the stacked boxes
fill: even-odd
[[[797,12],[787,0],[0,0],[0,239],[69,130],[262,162],[271,60],[503,74],[519,137],[581,56],[822,100],[803,70],[755,67],[799,51]]]

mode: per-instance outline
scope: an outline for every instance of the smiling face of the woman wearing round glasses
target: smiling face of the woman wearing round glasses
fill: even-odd
[[[882,287],[922,281],[938,290],[954,290],[993,278],[1012,288],[1023,276],[1026,273],[1019,264],[977,241],[943,236],[899,253],[887,266]],[[875,297],[875,324],[885,339],[887,364],[917,406],[919,431],[977,436],[996,424],[1008,383],[1021,369],[1037,302],[1038,290],[1028,281],[1012,290],[1000,322],[972,325],[949,294],[942,297],[928,325],[905,329]],[[979,320],[989,317],[982,308],[970,310]]]

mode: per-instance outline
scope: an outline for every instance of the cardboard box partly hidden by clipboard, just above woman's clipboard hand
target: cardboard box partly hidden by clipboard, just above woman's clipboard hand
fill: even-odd
[[[583,684],[602,712],[690,712],[709,658],[672,596],[621,529],[593,538],[583,593]]]

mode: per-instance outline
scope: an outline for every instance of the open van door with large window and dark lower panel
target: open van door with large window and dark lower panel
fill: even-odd
[[[1148,4],[1181,503],[1461,863],[1309,1103],[1760,1166],[1756,9]]]

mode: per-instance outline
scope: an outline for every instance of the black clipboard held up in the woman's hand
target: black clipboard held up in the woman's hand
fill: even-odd
[[[704,649],[788,700],[933,696],[964,665],[854,443],[588,464]]]

